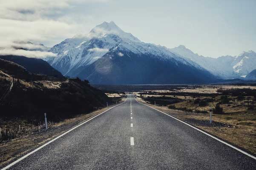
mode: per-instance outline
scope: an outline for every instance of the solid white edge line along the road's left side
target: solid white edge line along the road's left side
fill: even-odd
[[[128,98],[128,95],[127,95],[127,98]],[[126,100],[127,100],[127,98],[126,98]],[[125,103],[126,100],[125,100],[123,103]],[[26,155],[22,156],[20,159],[17,159],[16,161],[12,162],[11,164],[7,165],[6,167],[4,167],[4,168],[1,169],[1,170],[7,170],[8,168],[12,167],[14,164],[17,164],[18,162],[22,161],[22,160],[25,159],[26,157],[32,155],[33,153],[35,153],[35,152],[37,152],[38,150],[40,150],[40,149],[42,149],[43,147],[45,147],[46,145],[49,145],[50,143],[54,142],[55,140],[59,139],[60,137],[64,136],[65,134],[69,133],[70,131],[73,131],[74,129],[78,128],[79,126],[83,125],[84,123],[89,122],[90,120],[94,119],[95,117],[98,117],[99,115],[105,113],[106,111],[109,111],[110,109],[113,109],[114,107],[119,106],[119,105],[121,105],[121,104],[123,104],[123,103],[120,103],[120,104],[118,104],[118,105],[115,105],[115,106],[113,106],[113,107],[111,107],[111,108],[109,108],[109,109],[103,111],[102,113],[97,114],[96,116],[90,118],[89,120],[86,120],[85,122],[83,122],[83,123],[81,123],[81,124],[75,126],[74,128],[70,129],[69,131],[66,131],[65,133],[61,134],[60,136],[58,136],[58,137],[56,137],[56,138],[50,140],[50,141],[47,142],[46,144],[44,144],[44,145],[40,146],[39,148],[33,150],[32,152],[27,153]]]

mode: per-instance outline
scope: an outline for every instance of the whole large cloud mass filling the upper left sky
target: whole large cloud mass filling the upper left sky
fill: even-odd
[[[28,52],[17,50],[15,42],[33,42],[34,44],[55,45],[63,39],[80,32],[86,16],[79,20],[66,17],[72,14],[69,10],[86,3],[106,3],[108,0],[0,0],[0,49],[1,54],[12,53],[31,56],[46,56],[41,51]],[[69,11],[69,12],[68,12]],[[79,23],[84,20],[83,23]],[[92,18],[89,18],[91,21]],[[42,46],[18,45],[28,50],[42,49]],[[38,57],[35,56],[35,57]]]

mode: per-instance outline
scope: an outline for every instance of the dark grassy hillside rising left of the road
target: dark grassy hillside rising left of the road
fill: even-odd
[[[117,100],[90,86],[88,81],[37,75],[14,62],[0,59],[1,96],[13,78],[12,90],[0,103],[0,140],[15,137],[13,129],[20,131],[19,125],[43,127],[45,112],[49,122],[59,122]]]

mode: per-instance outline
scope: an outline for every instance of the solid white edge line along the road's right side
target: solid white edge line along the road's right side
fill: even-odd
[[[134,95],[133,95],[133,97],[134,97]],[[135,97],[134,97],[134,98],[135,98]],[[136,100],[136,98],[135,98],[135,100]],[[137,100],[136,100],[136,101],[137,101]],[[138,101],[137,101],[137,102],[138,102]],[[141,102],[138,102],[138,103],[143,104],[143,105],[145,105],[145,106],[148,106],[148,105],[146,105],[146,104],[144,104],[144,103],[141,103]],[[150,107],[150,108],[152,108],[152,109],[155,109],[155,108],[153,108],[153,107],[151,107],[151,106],[148,106],[148,107]],[[186,122],[183,122],[182,120],[179,120],[179,119],[177,119],[176,117],[171,116],[170,114],[164,113],[163,111],[160,111],[160,110],[158,110],[158,109],[155,109],[155,110],[156,110],[156,111],[159,111],[159,112],[161,112],[161,113],[163,113],[163,114],[166,114],[167,116],[170,116],[170,117],[172,117],[173,119],[178,120],[179,122],[184,123],[184,124],[190,126],[191,128],[194,128],[194,129],[196,129],[197,131],[200,131],[201,133],[206,134],[207,136],[209,136],[209,137],[211,137],[211,138],[213,138],[213,139],[216,139],[216,140],[218,140],[219,142],[221,142],[221,143],[223,143],[223,144],[225,144],[225,145],[227,145],[227,146],[229,146],[229,147],[231,147],[231,148],[233,148],[233,149],[235,149],[235,150],[237,150],[237,151],[243,153],[244,155],[250,156],[251,158],[253,158],[253,159],[256,160],[256,157],[253,156],[253,155],[251,155],[250,153],[247,153],[247,152],[245,152],[245,151],[243,151],[243,150],[241,150],[241,149],[239,149],[239,148],[236,148],[235,146],[230,145],[229,143],[224,142],[223,140],[221,140],[221,139],[219,139],[219,138],[217,138],[217,137],[214,137],[213,135],[208,134],[208,133],[206,133],[205,131],[202,131],[202,130],[200,130],[200,129],[198,129],[198,128],[196,128],[196,127],[194,127],[194,126],[192,126],[192,125],[190,125],[190,124],[188,124],[188,123],[186,123]]]

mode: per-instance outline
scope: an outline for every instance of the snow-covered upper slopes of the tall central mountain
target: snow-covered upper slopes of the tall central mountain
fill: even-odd
[[[92,64],[109,50],[115,49],[146,54],[162,60],[175,59],[177,62],[203,69],[195,62],[174,54],[166,47],[141,42],[131,33],[122,31],[112,21],[97,25],[87,35],[77,35],[55,45],[49,52],[56,53],[58,56],[48,57],[45,60],[63,75],[73,76],[82,67]]]

